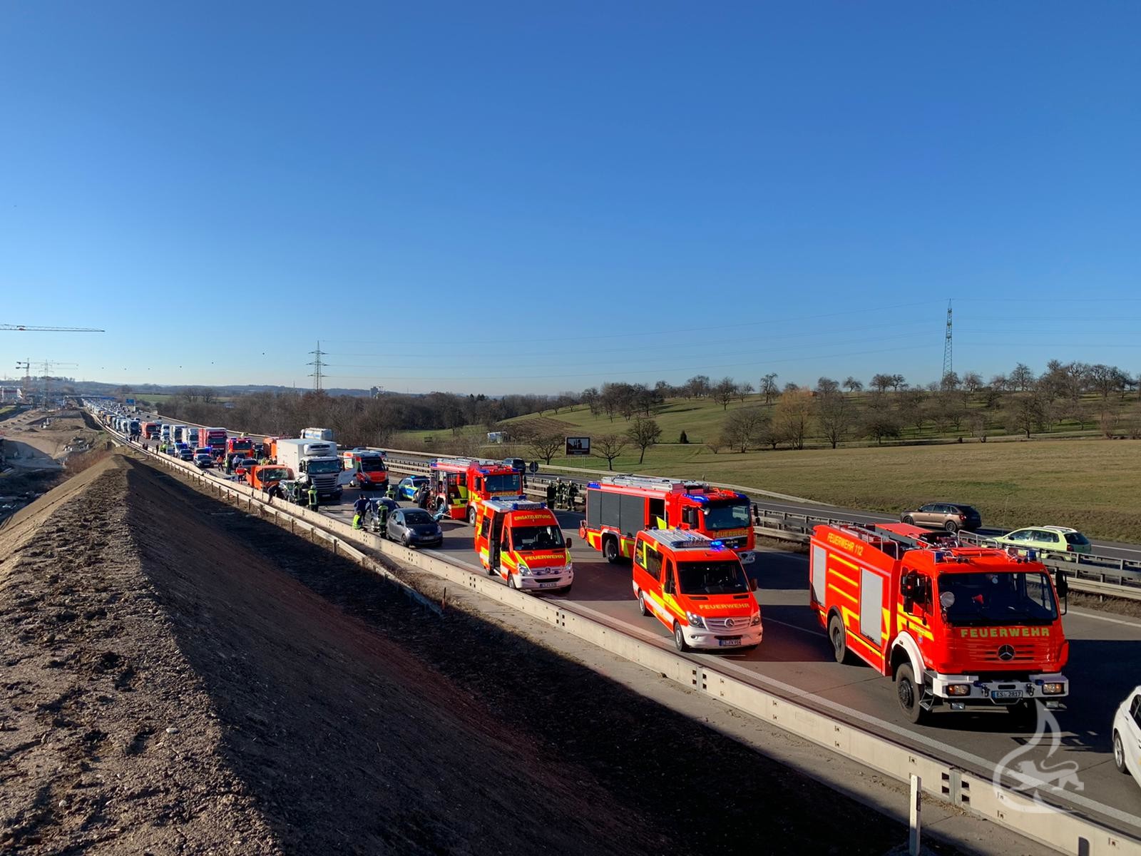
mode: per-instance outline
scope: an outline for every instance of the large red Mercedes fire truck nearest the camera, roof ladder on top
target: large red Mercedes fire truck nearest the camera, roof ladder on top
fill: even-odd
[[[817,526],[809,581],[836,662],[856,656],[891,677],[913,722],[940,706],[1029,714],[1069,694],[1068,586],[1033,552],[965,547],[906,523]]]

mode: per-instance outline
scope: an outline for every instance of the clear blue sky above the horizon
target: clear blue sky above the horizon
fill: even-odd
[[[122,382],[1141,371],[1141,5],[6,3],[0,332]],[[65,373],[60,370],[59,373]]]

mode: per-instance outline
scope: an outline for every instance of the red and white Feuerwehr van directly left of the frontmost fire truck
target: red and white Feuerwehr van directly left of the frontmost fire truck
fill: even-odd
[[[632,565],[638,611],[665,624],[678,651],[761,644],[756,581],[720,541],[694,530],[644,530]]]

